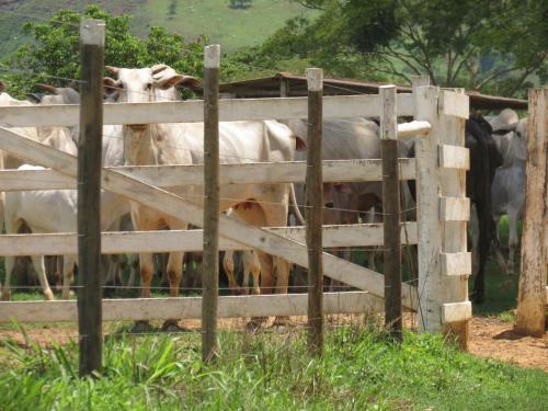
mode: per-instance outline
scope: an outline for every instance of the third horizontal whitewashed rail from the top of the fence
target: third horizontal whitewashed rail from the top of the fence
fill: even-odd
[[[304,227],[269,228],[270,231],[292,240],[304,242]],[[171,231],[113,231],[103,232],[101,239],[104,254],[202,251],[203,230]],[[401,241],[416,244],[416,222],[401,227]],[[345,226],[323,226],[323,246],[373,247],[384,244],[381,224],[356,224]],[[249,247],[220,238],[221,250],[248,250]],[[7,235],[0,236],[0,255],[61,255],[76,254],[76,233]]]

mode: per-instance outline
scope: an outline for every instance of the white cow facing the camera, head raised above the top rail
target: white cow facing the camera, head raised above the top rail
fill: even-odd
[[[196,84],[189,76],[173,75],[155,79],[160,70],[118,69],[107,67],[117,75],[117,101],[137,103],[158,101],[157,92],[181,85]],[[110,81],[110,80],[109,80]],[[204,124],[128,124],[124,125],[124,142],[126,164],[198,164],[204,158]],[[275,121],[265,122],[230,122],[219,124],[219,151],[221,162],[246,163],[253,161],[288,161],[293,160],[296,140],[289,128]],[[285,226],[287,220],[289,184],[238,184],[220,187],[220,210],[228,209],[239,203],[256,202],[262,208],[261,220],[250,220],[246,207],[237,210],[239,216],[258,226]],[[203,203],[203,187],[175,187],[176,194]],[[219,210],[219,212],[220,212]],[[132,203],[132,218],[138,230],[155,230],[161,226],[185,229],[183,219],[163,215],[155,209]],[[184,216],[183,216],[184,218]],[[262,253],[261,253],[262,254]],[[141,295],[150,296],[152,277],[152,255],[141,254]],[[168,262],[170,294],[176,296],[182,277],[183,253],[171,253]],[[273,283],[272,265],[263,266],[263,285]],[[288,264],[274,259],[279,292],[287,292]],[[169,321],[168,326],[173,324]]]

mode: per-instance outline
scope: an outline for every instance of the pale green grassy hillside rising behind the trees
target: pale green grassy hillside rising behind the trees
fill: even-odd
[[[59,9],[82,10],[84,0],[0,0],[0,58],[25,41],[21,26],[41,21]],[[167,27],[190,39],[206,35],[224,50],[263,42],[284,22],[308,10],[292,0],[252,0],[248,8],[231,8],[230,0],[116,0],[93,1],[113,14],[134,16],[133,27],[144,35],[151,25]]]

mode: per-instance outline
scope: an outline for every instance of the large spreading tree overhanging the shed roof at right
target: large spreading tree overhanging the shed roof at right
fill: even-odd
[[[263,59],[305,56],[331,75],[410,81],[513,95],[548,77],[548,3],[536,0],[296,0],[321,11],[269,38]],[[359,69],[362,66],[362,69]],[[374,76],[372,76],[374,75]]]

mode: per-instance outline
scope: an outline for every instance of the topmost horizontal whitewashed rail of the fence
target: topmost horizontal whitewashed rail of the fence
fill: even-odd
[[[219,101],[219,121],[307,118],[307,98],[227,99]],[[323,116],[378,117],[378,94],[323,98]],[[398,115],[412,116],[411,94],[398,98]],[[76,126],[79,106],[75,104],[2,106],[0,126]],[[155,103],[111,103],[104,105],[103,124],[194,123],[204,121],[204,102],[176,101]]]

